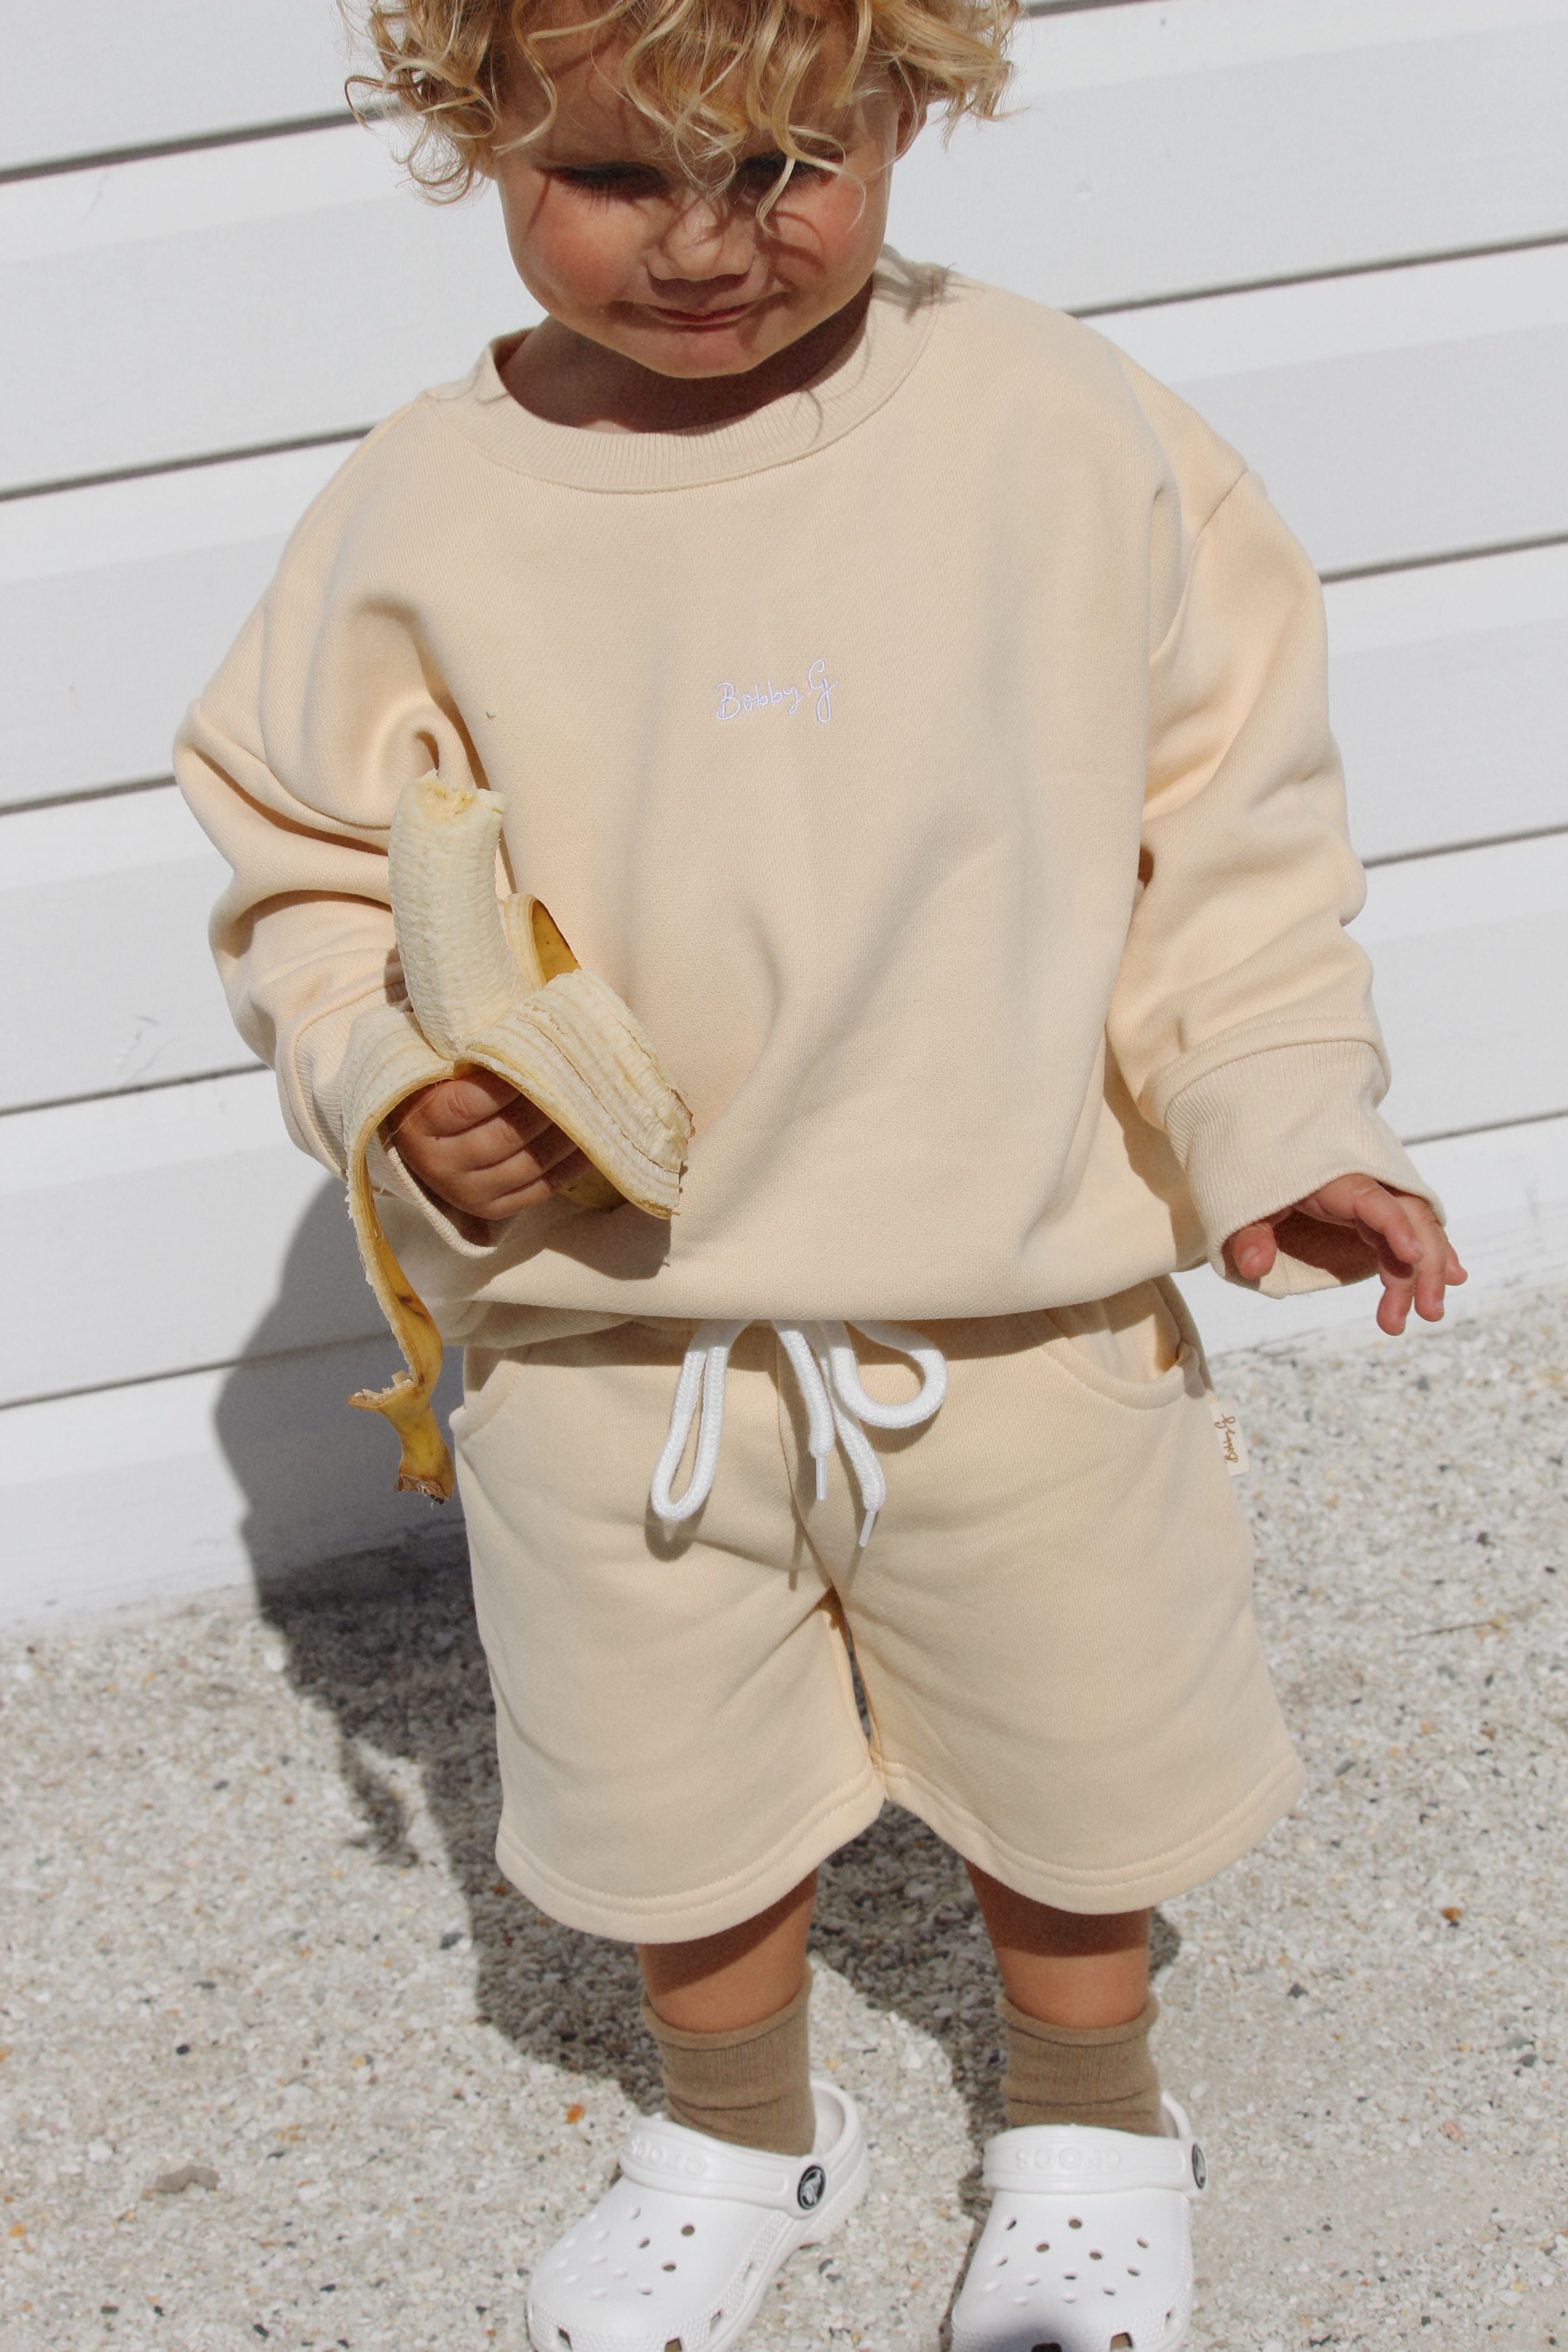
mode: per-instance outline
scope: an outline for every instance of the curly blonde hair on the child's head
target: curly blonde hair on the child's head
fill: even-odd
[[[545,45],[597,33],[621,49],[630,103],[665,136],[679,167],[722,186],[743,143],[764,132],[792,162],[832,160],[830,141],[795,120],[813,99],[842,108],[870,85],[961,115],[999,111],[1006,42],[1020,0],[602,0],[581,19],[541,24],[541,0],[339,0],[369,38],[374,73],[350,80],[376,111],[414,127],[407,167],[435,198],[465,195],[503,141],[503,73],[522,61],[555,120]]]

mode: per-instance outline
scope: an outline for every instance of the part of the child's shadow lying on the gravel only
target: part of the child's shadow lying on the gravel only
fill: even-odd
[[[632,1950],[557,1926],[496,1870],[501,1783],[468,1576],[350,1562],[336,1585],[329,1571],[270,1578],[261,1604],[287,1639],[294,1684],[339,1724],[364,1839],[388,1870],[416,1858],[388,1776],[395,1759],[416,1766],[468,1903],[480,2016],[531,2058],[609,2074],[637,2107],[654,2107]],[[980,2140],[1001,2129],[1001,2058],[997,1978],[985,1938],[971,1933],[976,1917],[957,1853],[889,1806],[823,1867],[813,1950],[875,2009],[896,2009],[945,2046]],[[1154,1926],[1164,1966],[1178,1938],[1168,1922]]]

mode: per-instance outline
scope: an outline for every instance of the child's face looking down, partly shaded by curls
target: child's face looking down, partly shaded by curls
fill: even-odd
[[[745,374],[860,292],[912,125],[886,92],[832,120],[797,108],[839,143],[844,169],[797,165],[759,219],[780,172],[771,143],[759,134],[724,195],[703,195],[621,94],[616,64],[590,38],[550,42],[559,113],[543,139],[494,158],[517,273],[564,327],[661,376]],[[543,113],[541,96],[520,99],[503,139]]]

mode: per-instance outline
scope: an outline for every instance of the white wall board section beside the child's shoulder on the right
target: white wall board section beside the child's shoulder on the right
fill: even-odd
[[[1098,320],[1319,572],[1568,534],[1568,245]]]

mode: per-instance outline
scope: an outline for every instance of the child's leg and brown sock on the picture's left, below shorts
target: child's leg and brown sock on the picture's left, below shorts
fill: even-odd
[[[806,1931],[816,1872],[783,1900],[693,1943],[637,1947],[642,2023],[658,2042],[665,2114],[741,2147],[804,2157],[816,2138]]]

